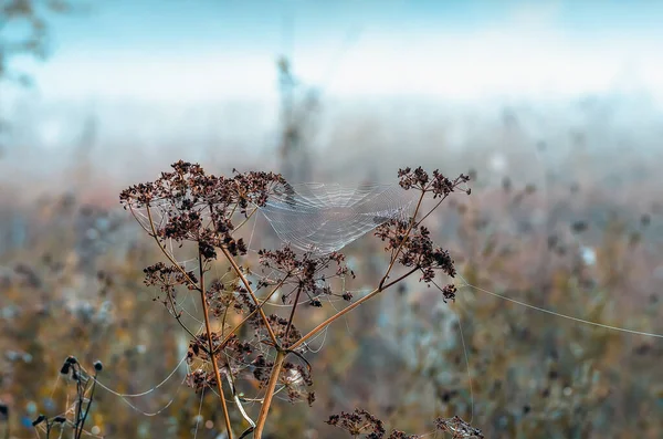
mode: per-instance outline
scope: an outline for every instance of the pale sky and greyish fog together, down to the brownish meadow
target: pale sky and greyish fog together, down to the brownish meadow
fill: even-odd
[[[157,169],[238,148],[238,165],[276,166],[280,56],[298,84],[288,98],[311,113],[304,145],[323,174],[376,151],[391,169],[404,145],[412,160],[525,153],[495,137],[505,119],[517,143],[549,145],[547,159],[567,156],[577,134],[591,154],[656,156],[661,8],[590,3],[94,2],[53,18],[45,63],[10,60],[34,85],[0,83],[1,166],[50,178],[85,149],[124,182],[136,160]]]

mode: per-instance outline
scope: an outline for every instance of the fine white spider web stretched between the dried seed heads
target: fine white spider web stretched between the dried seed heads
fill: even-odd
[[[391,219],[409,217],[413,200],[392,185],[286,184],[260,210],[282,241],[328,254]]]

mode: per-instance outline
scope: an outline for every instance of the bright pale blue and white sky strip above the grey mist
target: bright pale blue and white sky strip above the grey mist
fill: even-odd
[[[283,51],[333,96],[663,96],[663,1],[88,1],[29,63],[45,100],[273,97]]]

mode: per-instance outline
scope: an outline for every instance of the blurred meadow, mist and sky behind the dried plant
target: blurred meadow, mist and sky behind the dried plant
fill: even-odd
[[[646,0],[0,0],[0,432],[63,410],[70,354],[126,394],[176,368],[186,337],[143,285],[159,255],[118,192],[178,159],[470,173],[430,224],[464,280],[663,334],[661,22]],[[347,253],[373,285],[380,242]],[[413,281],[338,322],[316,403],[280,401],[271,437],[343,437],[324,420],[354,407],[411,433],[459,415],[487,438],[663,437],[660,338],[477,288],[445,304]],[[99,390],[91,433],[223,438],[177,370],[134,408]]]

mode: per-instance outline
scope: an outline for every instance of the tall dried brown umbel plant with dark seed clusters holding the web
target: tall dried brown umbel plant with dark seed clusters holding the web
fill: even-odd
[[[454,276],[451,255],[433,243],[429,229],[421,221],[448,196],[461,190],[469,177],[461,175],[450,180],[438,170],[429,175],[422,168],[402,169],[399,177],[402,189],[419,194],[419,202],[410,218],[383,218],[372,226],[377,228],[376,236],[386,243],[389,263],[379,285],[358,300],[345,288],[334,289],[335,279],[351,280],[355,276],[338,251],[312,249],[298,252],[287,243],[280,249],[260,249],[257,266],[264,275],[259,282],[249,280],[251,270],[244,265],[249,249],[238,232],[261,207],[266,206],[270,196],[282,196],[283,188],[290,187],[277,174],[233,171],[232,177],[218,177],[206,174],[199,165],[178,161],[172,165],[172,171],[162,173],[157,180],[131,186],[120,194],[122,205],[158,243],[168,260],[146,268],[145,283],[159,289],[164,295],[159,297],[161,303],[191,336],[187,360],[192,372],[188,383],[196,390],[217,388],[230,438],[233,438],[233,431],[227,399],[234,401],[251,426],[241,437],[253,433],[254,438],[262,437],[275,393],[283,391],[291,401],[303,399],[313,404],[313,370],[304,355],[307,342],[329,324],[414,273],[419,273],[422,282],[434,286],[438,286],[435,278],[439,273]],[[424,212],[422,201],[427,197],[435,202]],[[290,208],[296,211],[297,205]],[[337,221],[339,218],[335,217]],[[343,228],[336,231],[340,230]],[[197,270],[188,270],[175,258],[171,249],[182,245],[192,245],[197,250]],[[208,280],[212,261],[219,259],[230,264],[232,275]],[[391,280],[390,274],[397,265],[404,273]],[[177,294],[182,290],[200,294],[204,318],[201,334],[187,327],[181,318]],[[442,300],[453,300],[453,284],[440,290]],[[265,306],[276,294],[282,309],[286,310],[284,315],[265,312]],[[340,311],[329,310],[334,311],[332,316],[303,333],[295,324],[297,310],[323,307],[324,301],[332,296],[349,304]],[[213,331],[212,317],[220,323]],[[253,380],[262,389],[264,397],[255,421],[242,406],[242,398],[236,393],[238,379]],[[229,387],[224,389],[227,384]],[[332,422],[348,431],[367,432],[369,438],[385,435],[381,422],[361,410],[330,418]],[[393,431],[390,438],[408,436]]]

